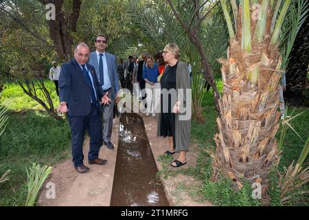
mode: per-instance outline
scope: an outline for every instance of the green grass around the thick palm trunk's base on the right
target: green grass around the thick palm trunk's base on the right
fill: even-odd
[[[222,83],[220,81],[217,82],[217,86],[218,90],[222,91]],[[291,107],[290,111],[292,111],[292,109]],[[306,108],[297,108],[297,111],[304,110],[306,110]],[[279,179],[275,170],[269,175],[270,184],[268,187],[268,195],[271,197],[271,201],[267,204],[262,203],[259,199],[252,199],[253,188],[251,188],[247,181],[243,181],[242,190],[236,192],[232,190],[231,186],[233,183],[231,179],[227,177],[220,175],[217,182],[211,182],[209,180],[212,172],[211,159],[203,149],[215,150],[216,145],[213,138],[214,134],[218,132],[216,124],[218,113],[216,113],[214,107],[214,96],[212,92],[206,93],[204,96],[203,115],[205,117],[205,124],[192,122],[191,143],[201,150],[201,153],[198,155],[196,167],[189,167],[185,170],[173,170],[169,166],[171,158],[159,157],[159,161],[163,165],[163,169],[159,171],[159,175],[167,178],[168,176],[183,173],[201,179],[203,181],[203,186],[199,193],[203,195],[205,200],[207,199],[216,206],[282,206],[280,203],[280,189],[278,187]],[[304,140],[306,140],[309,135],[308,123],[309,111],[299,115],[292,123],[294,129]],[[277,133],[277,137],[279,137],[279,133]],[[301,139],[289,129],[284,141],[284,151],[279,164],[279,170],[282,170],[283,166],[290,165],[293,160],[296,161],[303,146],[304,143]],[[305,166],[308,166],[308,159],[305,164]],[[308,190],[308,187],[306,190]],[[295,197],[290,201],[290,205],[302,206],[305,205],[304,203],[306,203],[306,201],[308,201],[308,199],[305,197]]]

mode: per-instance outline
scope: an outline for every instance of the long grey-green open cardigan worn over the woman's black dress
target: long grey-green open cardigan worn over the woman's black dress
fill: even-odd
[[[179,89],[183,89],[183,94],[181,94],[181,92],[179,93]],[[192,118],[192,95],[190,89],[189,70],[187,69],[187,65],[181,61],[179,61],[176,69],[176,94],[177,100],[183,100],[180,107],[180,112],[183,113],[177,113],[175,120],[176,151],[189,151]],[[160,104],[159,109],[161,110]],[[185,111],[185,109],[187,111]],[[161,113],[159,113],[157,124],[157,135],[160,136]]]

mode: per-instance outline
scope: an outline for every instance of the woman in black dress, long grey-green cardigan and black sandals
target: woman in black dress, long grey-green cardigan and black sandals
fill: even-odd
[[[168,136],[169,150],[164,155],[173,155],[179,153],[178,159],[170,164],[173,167],[185,165],[186,153],[189,151],[190,146],[190,133],[191,133],[191,117],[188,120],[180,120],[180,109],[187,108],[186,93],[190,89],[190,77],[187,65],[179,61],[179,47],[175,43],[170,43],[165,46],[163,51],[164,61],[168,63],[165,67],[165,72],[161,77],[161,91],[163,89],[176,89],[176,97],[173,99],[171,96],[168,99],[163,98],[161,92],[161,113],[158,115],[157,135],[166,137]],[[180,98],[180,92],[183,92],[183,98]],[[166,95],[166,94],[165,94]],[[191,96],[190,96],[191,97]],[[163,103],[168,100],[167,103]],[[190,102],[189,102],[190,103]],[[163,105],[168,106],[168,112],[163,111]],[[191,108],[191,105],[190,107]]]

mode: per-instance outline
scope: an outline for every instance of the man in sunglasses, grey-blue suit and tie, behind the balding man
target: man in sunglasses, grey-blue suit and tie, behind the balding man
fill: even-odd
[[[111,133],[113,128],[113,111],[115,100],[119,98],[117,93],[120,89],[119,78],[117,74],[116,57],[105,52],[107,47],[106,37],[98,35],[95,38],[95,52],[91,52],[89,64],[95,67],[95,72],[98,76],[99,83],[102,89],[111,100],[110,104],[103,107],[103,144],[108,149],[113,150],[114,146],[111,143]]]

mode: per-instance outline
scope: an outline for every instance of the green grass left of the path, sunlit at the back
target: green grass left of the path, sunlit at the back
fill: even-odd
[[[46,80],[54,104],[58,96],[54,83]],[[23,93],[21,87],[7,83],[0,102],[9,100],[8,126],[0,137],[0,175],[10,169],[10,180],[0,184],[0,206],[24,206],[27,199],[25,167],[36,164],[54,166],[71,155],[69,124],[54,120],[40,104]]]

